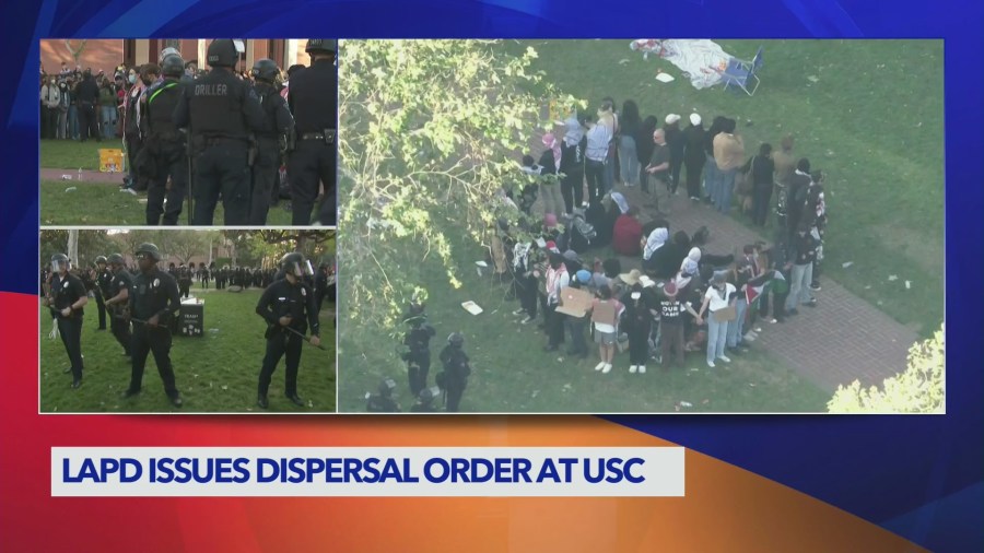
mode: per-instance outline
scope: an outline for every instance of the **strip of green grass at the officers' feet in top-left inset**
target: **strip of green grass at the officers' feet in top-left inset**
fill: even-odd
[[[70,190],[74,188],[74,190]],[[105,183],[75,180],[42,180],[42,225],[142,226],[147,223],[147,193],[133,196]],[[286,202],[271,208],[267,226],[291,226]],[[188,203],[185,202],[178,223],[188,224]],[[223,224],[222,202],[215,207],[213,224]]]

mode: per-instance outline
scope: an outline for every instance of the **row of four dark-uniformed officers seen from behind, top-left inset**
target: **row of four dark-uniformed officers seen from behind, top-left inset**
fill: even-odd
[[[273,60],[254,64],[255,84],[236,77],[239,55],[231,39],[209,45],[211,71],[190,82],[183,80],[180,55],[164,57],[163,80],[143,93],[144,143],[134,161],[149,180],[147,224],[176,225],[187,198],[191,225],[211,226],[221,201],[225,226],[262,226],[286,157],[291,224],[307,226],[314,217],[333,226],[337,43],[307,42],[311,66],[291,75],[286,99]],[[325,195],[314,214],[321,184]]]

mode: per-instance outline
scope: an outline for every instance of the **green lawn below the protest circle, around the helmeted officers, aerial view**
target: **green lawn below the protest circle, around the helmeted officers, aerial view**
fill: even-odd
[[[664,373],[651,364],[645,375],[632,375],[628,353],[620,353],[611,373],[602,375],[594,370],[598,354],[591,344],[588,358],[570,363],[563,354],[565,346],[560,352],[544,352],[542,331],[535,323],[519,325],[520,317],[512,315],[518,302],[505,301],[504,286],[489,275],[479,276],[469,261],[459,267],[460,290],[440,285],[446,276],[433,262],[421,270],[425,271],[423,282],[431,286],[430,323],[437,330],[431,340],[429,385],[434,385],[434,375],[441,370],[437,357],[447,336],[464,332],[473,374],[461,400],[462,412],[676,412],[675,405],[681,401],[693,404],[681,412],[825,411],[828,392],[754,349],[716,369],[707,368],[700,352],[687,355],[686,368]],[[461,303],[469,299],[484,313],[473,316],[462,309]],[[339,310],[344,313],[344,306]],[[348,327],[353,323],[348,321]],[[364,411],[365,392],[375,391],[384,377],[396,379],[405,411],[413,403],[397,344],[398,340],[385,336],[366,337],[358,330],[342,333],[340,411]]]

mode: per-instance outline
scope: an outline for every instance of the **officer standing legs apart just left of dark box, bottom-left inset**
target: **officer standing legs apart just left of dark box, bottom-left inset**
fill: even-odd
[[[181,395],[174,381],[171,365],[171,330],[168,323],[181,307],[174,278],[157,269],[161,251],[153,244],[141,244],[136,251],[140,274],[133,280],[129,295],[133,321],[133,341],[130,346],[133,367],[130,387],[124,398],[140,393],[147,355],[154,354],[157,373],[164,383],[164,392],[174,407],[181,407]]]

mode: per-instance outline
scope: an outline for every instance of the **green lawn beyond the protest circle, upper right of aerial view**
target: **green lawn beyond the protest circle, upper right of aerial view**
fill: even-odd
[[[793,133],[795,154],[828,175],[824,273],[922,336],[932,334],[944,313],[942,42],[718,44],[743,59],[764,46],[762,84],[753,97],[719,86],[699,91],[668,61],[643,60],[629,40],[504,42],[496,48],[535,47],[534,68],[562,92],[589,101],[591,109],[612,96],[619,108],[635,99],[644,118],[656,115],[660,122],[676,113],[686,123],[693,110],[705,128],[716,115],[736,118],[749,155],[760,143],[777,148]],[[657,68],[676,81],[656,81]],[[852,264],[843,268],[846,262]]]

